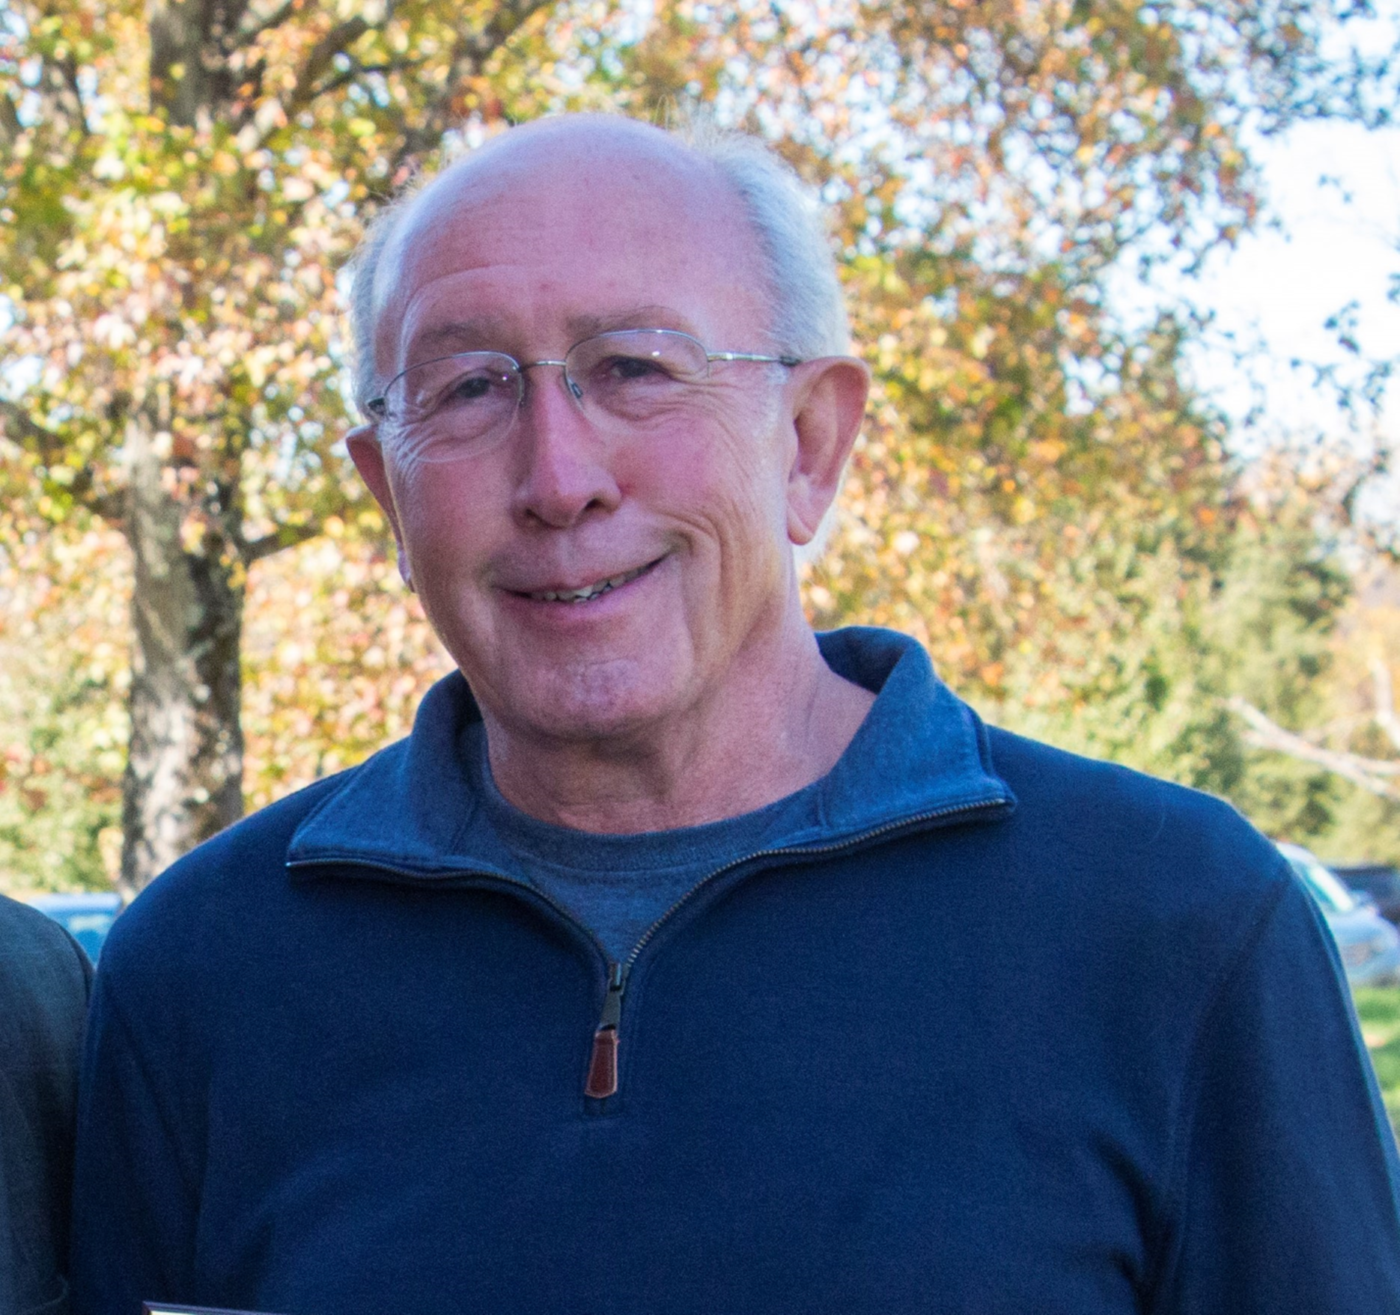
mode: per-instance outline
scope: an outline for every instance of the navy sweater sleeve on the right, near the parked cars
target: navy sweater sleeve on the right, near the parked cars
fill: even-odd
[[[1400,1161],[1336,945],[1281,885],[1184,1076],[1156,1315],[1400,1311]]]

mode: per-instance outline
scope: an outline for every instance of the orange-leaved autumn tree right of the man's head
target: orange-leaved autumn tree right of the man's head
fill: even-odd
[[[1147,637],[1182,633],[1186,597],[1224,569],[1235,472],[1182,382],[1193,325],[1126,326],[1109,284],[1189,267],[1256,221],[1247,127],[1385,116],[1386,62],[1326,50],[1359,11],[924,0],[813,7],[813,27],[741,3],[718,28],[704,13],[662,7],[630,76],[654,101],[748,113],[840,206],[876,374],[815,616],[920,634],[1023,728],[1113,704],[1141,731],[1161,697]]]

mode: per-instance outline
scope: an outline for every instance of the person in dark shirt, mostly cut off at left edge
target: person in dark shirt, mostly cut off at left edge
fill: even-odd
[[[0,895],[0,1312],[67,1311],[78,1046],[92,968],[38,909]]]

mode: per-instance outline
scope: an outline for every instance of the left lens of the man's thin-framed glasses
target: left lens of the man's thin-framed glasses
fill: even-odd
[[[385,394],[395,443],[423,462],[455,461],[493,447],[519,406],[521,373],[500,352],[463,352],[410,366]]]

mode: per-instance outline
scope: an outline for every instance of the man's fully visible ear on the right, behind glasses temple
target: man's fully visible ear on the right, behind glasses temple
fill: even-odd
[[[797,451],[788,471],[788,538],[809,543],[836,500],[846,459],[865,417],[871,373],[853,356],[825,356],[797,367],[792,424]]]

